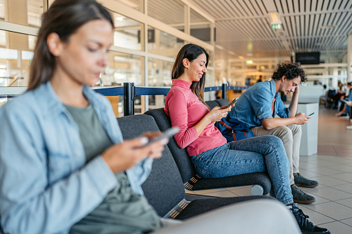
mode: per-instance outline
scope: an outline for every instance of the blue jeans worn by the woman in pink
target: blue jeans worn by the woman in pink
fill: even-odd
[[[284,144],[275,136],[261,136],[230,142],[191,157],[196,173],[219,178],[246,173],[268,172],[272,193],[284,204],[293,203],[290,166]]]

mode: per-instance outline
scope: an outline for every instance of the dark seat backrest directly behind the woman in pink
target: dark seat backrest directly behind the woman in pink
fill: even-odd
[[[151,115],[156,120],[156,124],[161,131],[167,130],[167,128],[171,128],[171,120],[166,115],[164,108],[158,108],[154,110],[148,110],[145,115]],[[182,177],[183,183],[189,182],[192,177],[196,175],[191,159],[189,159],[189,155],[185,148],[178,147],[174,137],[170,138],[169,150],[174,157],[174,160],[177,164],[178,170],[180,171],[180,175]]]

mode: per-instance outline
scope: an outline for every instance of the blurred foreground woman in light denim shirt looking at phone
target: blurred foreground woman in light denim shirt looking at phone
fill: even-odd
[[[299,233],[288,209],[261,200],[163,228],[170,222],[158,217],[140,185],[165,140],[142,148],[147,137],[123,142],[111,104],[89,87],[108,64],[113,29],[94,0],[57,0],[44,13],[28,90],[0,109],[0,232],[216,233],[220,226],[259,233],[268,225],[273,233],[287,226]],[[235,219],[223,221],[229,217]]]

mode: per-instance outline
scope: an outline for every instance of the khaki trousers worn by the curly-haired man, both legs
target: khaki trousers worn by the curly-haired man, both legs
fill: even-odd
[[[284,143],[286,155],[290,162],[290,185],[295,184],[293,173],[299,173],[299,146],[301,145],[302,128],[300,125],[292,124],[289,126],[280,126],[266,130],[263,127],[251,128],[254,137],[274,135]]]

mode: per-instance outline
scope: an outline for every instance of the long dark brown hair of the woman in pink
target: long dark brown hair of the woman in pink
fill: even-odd
[[[207,68],[207,64],[209,62],[209,55],[207,51],[201,47],[194,44],[187,44],[183,46],[178,52],[176,57],[174,67],[172,68],[172,79],[177,79],[183,72],[185,72],[185,66],[183,66],[183,59],[188,59],[188,61],[194,61],[194,59],[198,58],[199,55],[203,55],[207,57],[207,62],[205,63],[205,67]],[[193,81],[191,84],[191,90],[198,97],[199,100],[205,104],[204,101],[204,88],[205,88],[205,73],[203,74],[202,78],[199,81]],[[205,104],[207,106],[207,104]],[[208,106],[209,108],[209,106]]]

